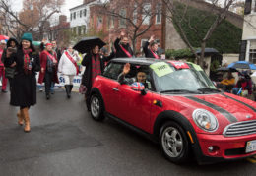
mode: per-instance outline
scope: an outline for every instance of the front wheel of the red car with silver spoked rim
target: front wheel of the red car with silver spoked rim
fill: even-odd
[[[188,138],[179,124],[169,121],[160,128],[160,148],[164,157],[176,164],[184,163],[189,155]]]

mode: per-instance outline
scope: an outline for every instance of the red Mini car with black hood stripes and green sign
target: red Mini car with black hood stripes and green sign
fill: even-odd
[[[147,86],[120,84],[146,73]],[[112,118],[160,143],[163,155],[182,163],[193,153],[199,164],[256,154],[256,103],[218,90],[193,63],[144,58],[111,60],[96,77],[91,115]]]

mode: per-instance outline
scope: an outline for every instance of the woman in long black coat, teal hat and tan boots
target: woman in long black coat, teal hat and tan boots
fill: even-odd
[[[11,102],[13,106],[20,106],[18,112],[18,124],[25,122],[25,132],[30,132],[29,108],[36,104],[36,79],[35,72],[40,70],[39,55],[32,45],[32,34],[24,33],[22,43],[16,53],[7,50],[5,66],[16,65],[11,90]]]

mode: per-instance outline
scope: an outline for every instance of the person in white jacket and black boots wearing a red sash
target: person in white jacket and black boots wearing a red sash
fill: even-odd
[[[80,57],[78,53],[74,52],[72,46],[69,46],[68,50],[64,51],[59,61],[58,71],[63,74],[68,98],[70,98],[73,88],[73,79],[75,75],[79,74],[79,67],[77,65],[79,60]]]

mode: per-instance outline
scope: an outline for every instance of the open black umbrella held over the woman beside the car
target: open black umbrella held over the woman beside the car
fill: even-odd
[[[99,49],[105,45],[105,43],[98,37],[92,36],[92,37],[85,37],[82,40],[80,40],[73,49],[77,50],[78,52],[84,54],[89,53],[91,49],[95,46],[99,46]]]

